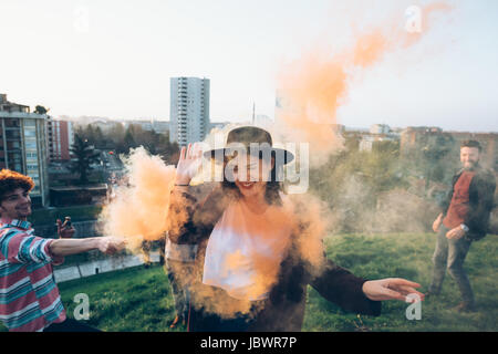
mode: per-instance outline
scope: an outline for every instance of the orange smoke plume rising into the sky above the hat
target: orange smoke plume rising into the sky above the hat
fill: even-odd
[[[345,103],[350,83],[378,64],[383,56],[417,43],[430,29],[435,14],[452,7],[435,2],[421,9],[421,31],[409,32],[396,20],[357,33],[349,46],[339,53],[313,50],[284,65],[278,76],[280,107],[276,123],[287,138],[309,143],[312,156],[321,162],[342,146],[336,124],[338,108]]]

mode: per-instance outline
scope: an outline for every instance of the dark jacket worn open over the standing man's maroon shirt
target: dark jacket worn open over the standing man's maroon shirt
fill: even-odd
[[[442,212],[446,216],[449,209],[449,205],[453,199],[455,190],[455,184],[460,178],[464,169],[460,169],[453,176],[452,188],[448,191],[446,199],[442,202]],[[477,241],[486,236],[489,228],[489,216],[495,207],[495,189],[496,180],[491,171],[477,166],[475,175],[470,181],[469,194],[469,208],[464,223],[469,228],[465,238],[467,240]]]

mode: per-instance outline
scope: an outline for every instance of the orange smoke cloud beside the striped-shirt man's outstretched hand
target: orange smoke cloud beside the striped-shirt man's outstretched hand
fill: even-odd
[[[143,240],[157,240],[167,230],[170,190],[175,184],[174,166],[143,148],[132,150],[126,160],[129,186],[122,186],[116,198],[104,208],[104,233],[123,237],[136,250]]]

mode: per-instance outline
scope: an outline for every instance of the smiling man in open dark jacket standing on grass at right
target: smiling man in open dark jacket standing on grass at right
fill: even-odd
[[[433,223],[433,230],[438,235],[433,257],[433,282],[428,293],[437,295],[440,292],[447,268],[461,293],[463,301],[456,308],[459,312],[476,311],[464,261],[471,242],[486,236],[489,215],[494,208],[495,176],[479,165],[481,149],[479,142],[461,143],[463,169],[453,177],[452,190]]]

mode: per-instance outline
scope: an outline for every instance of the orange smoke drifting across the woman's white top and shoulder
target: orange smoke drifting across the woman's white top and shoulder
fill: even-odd
[[[302,262],[308,271],[318,275],[325,260],[322,242],[328,229],[324,210],[318,198],[288,196],[283,197],[282,207],[270,206],[258,217],[245,212],[246,219],[242,221],[240,218],[231,225],[231,231],[247,231],[251,235],[251,241],[260,249],[250,254],[243,254],[240,250],[234,251],[226,258],[221,274],[225,277],[235,269],[246,269],[250,266],[250,285],[232,290],[231,300],[220,303],[217,288],[197,284],[193,291],[196,299],[194,304],[222,317],[250,313],[253,305],[251,299],[259,299],[272,289],[278,281],[281,262],[288,257],[295,262]],[[245,223],[241,229],[239,221]]]

